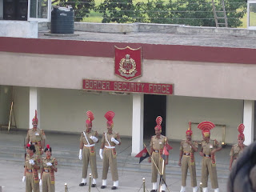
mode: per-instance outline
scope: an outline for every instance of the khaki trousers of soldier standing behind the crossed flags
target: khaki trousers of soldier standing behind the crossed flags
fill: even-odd
[[[151,167],[152,167],[152,177],[151,177],[151,182],[157,182],[158,181],[158,170],[160,171],[160,173],[162,173],[162,158],[160,157],[160,154],[159,153],[155,153],[153,152],[151,157],[153,158],[156,166],[154,165],[154,162],[153,160],[151,159]],[[166,167],[164,167],[164,170],[163,170],[163,179],[165,180],[166,182]]]

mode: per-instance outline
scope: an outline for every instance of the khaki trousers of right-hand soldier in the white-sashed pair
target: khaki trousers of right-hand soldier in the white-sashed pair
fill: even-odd
[[[112,181],[118,181],[118,163],[117,158],[113,157],[111,149],[104,149],[103,152],[103,169],[102,169],[102,180],[106,180],[107,172],[111,170]]]

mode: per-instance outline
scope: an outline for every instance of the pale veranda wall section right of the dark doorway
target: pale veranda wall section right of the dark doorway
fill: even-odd
[[[235,143],[238,125],[242,123],[243,101],[221,98],[167,97],[166,136],[170,139],[185,139],[188,122],[210,121],[226,125],[226,143]],[[202,133],[192,125],[193,139],[201,141]],[[211,131],[211,137],[222,141],[222,126]]]

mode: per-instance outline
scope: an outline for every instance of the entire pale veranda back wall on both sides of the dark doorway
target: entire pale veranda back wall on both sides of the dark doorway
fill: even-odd
[[[108,93],[90,94],[82,90],[40,88],[43,130],[78,133],[85,130],[86,110],[95,116],[93,127],[99,134],[106,130],[107,110],[115,112],[114,131],[123,136],[132,135],[132,95],[120,96]],[[31,127],[29,120],[29,88],[14,87],[14,110],[18,128]],[[217,98],[167,97],[166,136],[171,140],[185,138],[188,122],[211,121],[226,125],[225,142],[237,142],[237,127],[242,123],[242,100]],[[202,134],[192,124],[193,138],[200,141]],[[216,126],[212,138],[222,142],[222,126]]]

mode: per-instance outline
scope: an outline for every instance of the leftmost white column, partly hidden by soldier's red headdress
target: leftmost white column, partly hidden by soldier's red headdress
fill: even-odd
[[[32,128],[32,119],[34,118],[34,111],[38,110],[38,127],[40,128],[40,100],[39,90],[37,87],[30,87],[30,119],[29,127]]]

